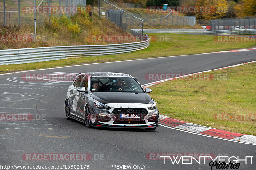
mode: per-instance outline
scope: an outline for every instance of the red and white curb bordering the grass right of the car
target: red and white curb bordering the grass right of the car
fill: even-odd
[[[249,63],[255,63],[255,62],[256,61],[252,61],[252,62],[248,62],[248,63],[232,65],[232,66],[223,67],[223,68],[214,69],[214,70],[222,70],[222,69],[226,69],[226,68],[230,68],[230,67],[236,67],[236,66],[249,64]],[[209,72],[209,71],[213,71],[213,70],[207,70],[207,71],[203,71],[203,72],[193,73],[193,74],[190,74],[190,75],[195,75],[195,74]],[[185,77],[185,76],[188,76],[188,75],[184,75],[184,76],[180,76],[180,77],[176,77],[176,78],[181,78],[181,77]],[[168,79],[148,83],[148,84],[145,84],[145,85],[142,85],[142,86],[143,86],[143,88],[146,88],[146,87],[150,87],[152,85],[156,85],[158,83],[173,80],[173,79],[176,79],[176,78],[168,78]],[[246,135],[246,134],[242,134],[242,133],[228,132],[228,131],[225,131],[225,130],[220,130],[220,129],[215,129],[215,128],[211,128],[211,127],[207,127],[207,126],[201,126],[201,125],[197,125],[197,124],[193,124],[193,123],[179,121],[179,120],[172,119],[172,118],[169,118],[169,117],[164,116],[164,115],[159,115],[159,124],[169,126],[169,127],[172,127],[172,128],[186,130],[186,131],[193,132],[193,133],[202,134],[202,135],[207,135],[207,136],[212,136],[212,137],[219,137],[219,138],[222,138],[222,139],[245,142],[245,143],[249,143],[249,144],[256,144],[256,136],[254,136],[254,135]]]

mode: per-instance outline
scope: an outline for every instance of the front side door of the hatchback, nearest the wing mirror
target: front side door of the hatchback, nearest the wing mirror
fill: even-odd
[[[85,89],[88,91],[88,76],[87,75],[84,76],[79,87],[85,87]],[[77,112],[76,114],[77,114],[77,116],[84,118],[85,105],[86,105],[86,101],[89,97],[89,94],[86,92],[78,92],[77,97],[78,97],[78,99],[77,99],[78,107],[76,110],[76,112]]]

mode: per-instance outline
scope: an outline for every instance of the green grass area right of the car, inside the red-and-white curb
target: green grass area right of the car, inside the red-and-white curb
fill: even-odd
[[[179,79],[151,86],[150,96],[158,103],[160,114],[202,126],[256,135],[256,63],[205,74],[213,74],[214,79]],[[220,114],[226,114],[228,120],[218,120]],[[231,120],[234,115],[228,117],[229,114],[242,114],[250,119]]]

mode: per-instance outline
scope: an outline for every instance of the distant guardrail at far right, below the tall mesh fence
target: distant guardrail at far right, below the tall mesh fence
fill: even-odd
[[[204,31],[204,35],[239,35],[239,34],[256,34],[256,29],[237,29],[237,30],[217,30],[217,31]]]

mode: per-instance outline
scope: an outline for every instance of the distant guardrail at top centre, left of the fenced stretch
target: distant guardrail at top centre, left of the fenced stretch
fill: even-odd
[[[132,29],[141,33],[141,29]],[[144,33],[203,33],[204,29],[143,29]]]

